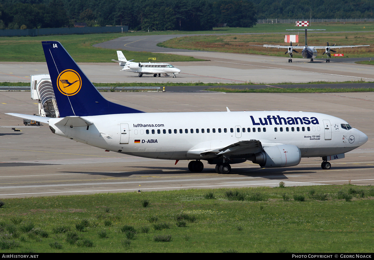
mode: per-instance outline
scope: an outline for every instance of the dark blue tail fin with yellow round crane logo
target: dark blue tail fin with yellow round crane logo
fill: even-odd
[[[60,42],[43,41],[42,45],[61,117],[142,113],[107,101]]]

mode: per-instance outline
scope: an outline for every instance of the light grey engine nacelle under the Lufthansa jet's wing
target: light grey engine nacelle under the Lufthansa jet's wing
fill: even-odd
[[[298,165],[300,149],[295,145],[276,145],[264,148],[252,156],[251,161],[263,168],[280,168]]]

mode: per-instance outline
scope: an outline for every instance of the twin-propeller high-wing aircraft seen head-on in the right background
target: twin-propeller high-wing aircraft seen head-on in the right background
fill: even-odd
[[[263,47],[271,47],[271,48],[285,48],[288,49],[284,54],[289,54],[289,59],[288,62],[292,62],[292,54],[298,53],[298,51],[294,49],[302,49],[301,55],[303,58],[308,58],[310,59],[311,62],[313,62],[313,58],[317,57],[317,49],[325,49],[323,54],[327,54],[327,59],[326,62],[330,62],[331,58],[331,52],[336,53],[335,50],[331,50],[331,47],[334,48],[353,48],[353,47],[364,47],[364,46],[370,46],[370,45],[342,45],[342,46],[335,46],[332,45],[331,47],[329,46],[329,43],[327,42],[326,46],[308,46],[308,41],[307,41],[307,28],[305,29],[287,29],[288,31],[301,31],[305,30],[305,46],[292,46],[292,42],[290,46],[282,46],[282,45],[272,45],[272,44],[264,44],[262,45]],[[309,31],[324,31],[324,29],[309,29]]]

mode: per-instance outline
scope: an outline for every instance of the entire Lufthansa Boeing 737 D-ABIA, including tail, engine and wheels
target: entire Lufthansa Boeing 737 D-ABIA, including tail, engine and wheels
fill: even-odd
[[[230,111],[146,113],[107,101],[57,41],[43,50],[60,118],[7,113],[48,123],[52,133],[128,155],[202,161],[229,174],[231,164],[250,160],[264,168],[295,166],[303,157],[344,158],[368,137],[345,120],[314,112]]]

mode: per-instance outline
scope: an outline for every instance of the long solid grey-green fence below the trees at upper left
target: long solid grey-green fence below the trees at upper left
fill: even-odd
[[[60,34],[103,34],[107,32],[128,32],[129,26],[103,26],[103,27],[67,27],[67,28],[41,28],[41,29],[6,29],[0,30],[3,36],[38,36]]]

